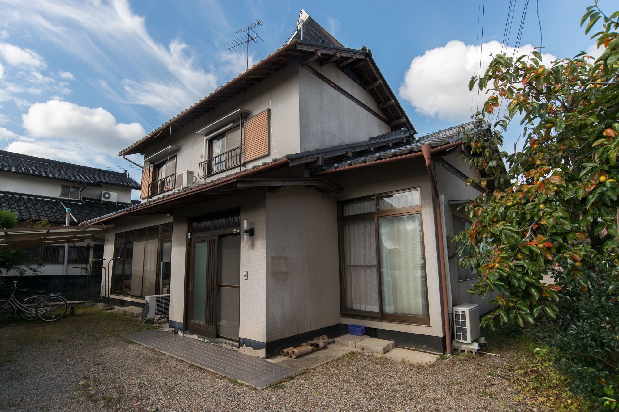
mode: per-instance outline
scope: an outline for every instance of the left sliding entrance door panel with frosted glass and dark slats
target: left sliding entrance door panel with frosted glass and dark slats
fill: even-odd
[[[217,237],[191,240],[188,279],[188,331],[215,338],[217,309]]]

